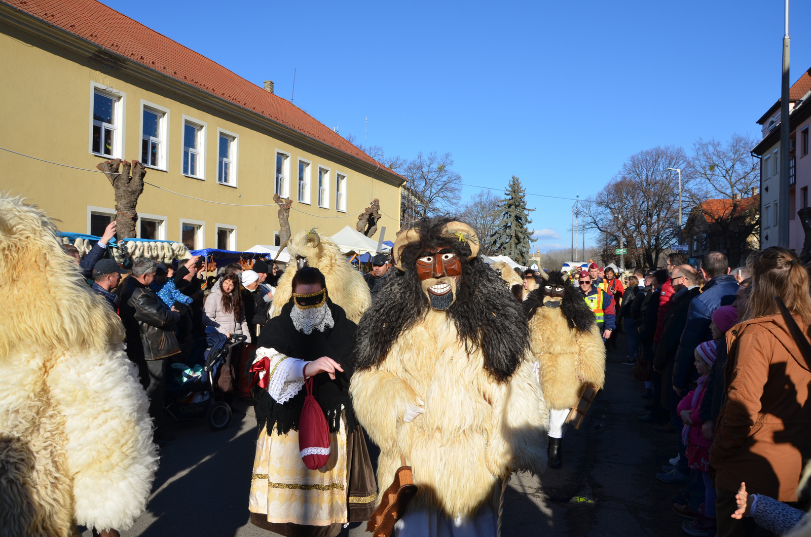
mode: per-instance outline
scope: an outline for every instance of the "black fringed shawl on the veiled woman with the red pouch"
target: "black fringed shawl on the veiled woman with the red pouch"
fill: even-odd
[[[316,375],[313,380],[313,395],[324,410],[330,432],[337,432],[341,427],[341,406],[345,409],[346,432],[354,430],[356,421],[350,400],[350,377],[354,370],[352,350],[355,344],[355,330],[358,328],[340,306],[328,302],[335,325],[324,332],[317,330],[305,335],[295,329],[290,311],[293,299],[281,308],[281,314],[268,320],[262,327],[257,346],[275,349],[285,356],[300,360],[319,359],[328,356],[341,364],[344,372],[336,372],[335,380],[330,380],[327,373]],[[256,423],[259,427],[268,427],[268,434],[273,427],[279,434],[286,434],[290,429],[298,431],[298,418],[301,416],[304,397],[307,390],[302,388],[290,401],[277,403],[266,389],[254,388],[256,402]]]

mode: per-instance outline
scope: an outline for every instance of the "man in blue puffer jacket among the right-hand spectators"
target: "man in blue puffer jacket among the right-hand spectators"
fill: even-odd
[[[729,261],[720,251],[710,251],[702,259],[702,274],[706,285],[692,302],[687,313],[687,324],[681,333],[679,350],[673,363],[673,389],[684,395],[693,380],[695,366],[693,353],[702,342],[712,339],[710,323],[713,312],[735,301],[738,282],[729,273]]]

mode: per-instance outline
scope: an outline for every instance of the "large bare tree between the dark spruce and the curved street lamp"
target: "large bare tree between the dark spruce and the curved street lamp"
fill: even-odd
[[[659,265],[662,251],[678,237],[678,178],[667,168],[683,170],[682,186],[689,186],[684,149],[646,149],[625,161],[611,182],[587,200],[585,208],[588,227],[607,234],[615,243],[621,236],[629,254],[638,248],[637,257],[650,267]]]

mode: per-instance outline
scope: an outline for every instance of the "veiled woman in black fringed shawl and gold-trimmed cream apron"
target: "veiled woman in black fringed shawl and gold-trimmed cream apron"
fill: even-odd
[[[281,535],[338,535],[348,522],[367,520],[377,489],[365,439],[350,401],[357,325],[328,298],[318,269],[298,269],[292,298],[260,333],[256,361],[259,438],[251,481],[251,522]],[[328,427],[328,447],[299,445],[307,390]],[[319,418],[320,419],[320,418]],[[326,432],[325,435],[327,436]],[[324,457],[311,470],[309,455]]]

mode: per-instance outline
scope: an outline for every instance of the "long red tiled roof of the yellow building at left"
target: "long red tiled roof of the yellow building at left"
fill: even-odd
[[[191,84],[204,92],[231,101],[246,110],[380,165],[341,135],[298,106],[252,84],[217,62],[172,41],[144,24],[95,0],[2,0],[65,32],[91,41],[132,62],[139,62],[164,75]],[[394,172],[391,172],[394,173]]]

